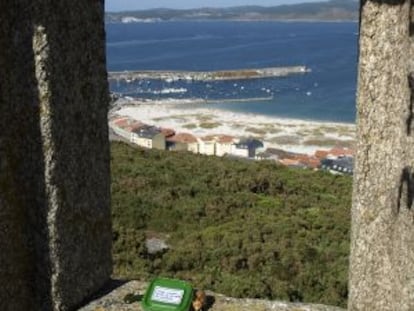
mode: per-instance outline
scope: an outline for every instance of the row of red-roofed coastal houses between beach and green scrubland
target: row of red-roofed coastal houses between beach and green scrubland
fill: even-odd
[[[318,149],[313,154],[296,153],[281,148],[265,147],[255,137],[228,134],[195,135],[174,128],[147,124],[130,116],[111,113],[109,127],[123,140],[149,149],[188,151],[218,157],[269,160],[288,167],[322,169],[334,174],[353,174],[353,149],[335,146]]]

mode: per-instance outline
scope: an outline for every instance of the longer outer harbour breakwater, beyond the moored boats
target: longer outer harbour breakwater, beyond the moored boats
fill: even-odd
[[[188,81],[223,81],[244,80],[270,77],[285,77],[292,74],[305,74],[310,72],[306,66],[268,67],[260,69],[239,69],[219,71],[112,71],[108,72],[108,79],[113,81],[127,81],[145,79],[159,79],[167,82]]]

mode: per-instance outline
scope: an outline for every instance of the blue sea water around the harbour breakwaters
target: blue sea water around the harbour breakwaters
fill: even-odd
[[[355,121],[357,23],[132,23],[108,24],[106,32],[109,71],[296,65],[312,70],[239,81],[111,82],[112,91],[151,99],[215,99],[215,108],[281,118]],[[226,99],[234,101],[220,101]]]

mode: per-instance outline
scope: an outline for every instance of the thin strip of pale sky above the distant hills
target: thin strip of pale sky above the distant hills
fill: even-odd
[[[199,7],[229,7],[237,5],[292,4],[316,0],[106,0],[106,11],[144,10],[150,8],[189,9]]]

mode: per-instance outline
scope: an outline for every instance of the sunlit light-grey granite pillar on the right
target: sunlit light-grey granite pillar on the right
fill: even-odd
[[[361,3],[349,310],[414,310],[411,3]]]

